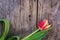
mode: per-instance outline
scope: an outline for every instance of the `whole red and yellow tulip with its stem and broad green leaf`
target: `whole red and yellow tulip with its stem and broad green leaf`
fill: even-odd
[[[51,25],[49,25],[48,20],[44,19],[43,21],[41,21],[38,24],[39,28],[37,30],[35,30],[33,33],[31,33],[27,37],[23,38],[22,40],[35,40],[35,39],[40,40],[40,39],[42,39],[43,37],[46,36],[46,34],[48,33],[48,30],[50,30],[50,29],[48,29],[50,26]],[[39,30],[41,30],[41,31],[39,31]]]

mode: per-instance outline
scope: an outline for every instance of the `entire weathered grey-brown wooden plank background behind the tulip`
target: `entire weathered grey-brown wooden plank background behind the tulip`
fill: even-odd
[[[29,35],[48,19],[53,30],[43,40],[60,40],[60,0],[0,0],[0,18],[9,19],[9,35]]]

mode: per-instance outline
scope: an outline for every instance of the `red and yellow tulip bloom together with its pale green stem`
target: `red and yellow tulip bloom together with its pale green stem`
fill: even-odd
[[[31,33],[30,35],[28,35],[27,37],[25,37],[23,40],[31,37],[32,35],[34,35],[35,33],[37,33],[39,30],[46,30],[50,27],[51,25],[49,25],[48,23],[48,20],[44,19],[43,21],[41,21],[39,24],[38,24],[38,29],[35,30],[33,33]],[[36,35],[35,35],[36,36]]]

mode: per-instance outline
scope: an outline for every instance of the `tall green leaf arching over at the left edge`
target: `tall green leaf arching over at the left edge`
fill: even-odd
[[[9,20],[7,19],[0,19],[0,22],[4,22],[5,24],[5,29],[4,29],[4,32],[3,32],[3,35],[1,36],[0,40],[4,40],[9,32],[9,28],[10,28],[10,22]]]

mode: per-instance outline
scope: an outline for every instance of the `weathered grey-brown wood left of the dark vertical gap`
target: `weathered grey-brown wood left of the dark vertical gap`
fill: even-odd
[[[37,0],[0,0],[0,18],[9,19],[9,36],[25,37],[36,29]]]

